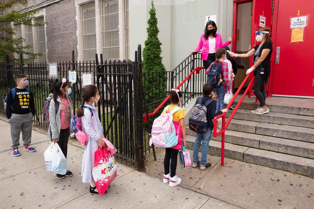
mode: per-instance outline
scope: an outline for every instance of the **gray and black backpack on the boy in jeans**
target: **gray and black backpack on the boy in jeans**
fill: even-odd
[[[208,121],[206,118],[207,115],[207,106],[214,102],[213,99],[208,99],[204,103],[203,97],[199,97],[196,100],[196,105],[192,109],[192,115],[189,118],[189,129],[195,131],[196,133],[204,133],[207,131]]]

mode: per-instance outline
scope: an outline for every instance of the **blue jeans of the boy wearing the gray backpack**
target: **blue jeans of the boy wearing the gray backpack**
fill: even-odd
[[[201,146],[202,142],[202,157],[201,157],[201,165],[206,165],[206,159],[207,159],[207,153],[208,153],[208,144],[210,141],[210,138],[212,137],[212,131],[210,128],[207,128],[207,131],[200,134],[196,133],[195,135],[195,142],[194,142],[194,148],[193,148],[193,162],[198,163],[198,151],[199,147]]]

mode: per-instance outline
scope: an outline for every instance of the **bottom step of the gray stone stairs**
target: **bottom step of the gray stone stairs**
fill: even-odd
[[[187,135],[187,148],[193,149],[195,137]],[[202,147],[200,147],[200,152]],[[210,140],[208,154],[220,156],[221,142]],[[314,159],[276,153],[252,147],[225,142],[225,158],[266,166],[269,168],[296,172],[314,178]]]

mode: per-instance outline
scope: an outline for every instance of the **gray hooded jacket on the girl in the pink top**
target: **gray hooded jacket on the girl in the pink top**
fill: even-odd
[[[72,112],[72,105],[71,105],[71,98],[67,95],[67,99],[69,101],[70,105],[70,120],[69,120],[69,128],[70,128],[70,133],[72,132],[72,124],[71,120],[73,118],[73,112]],[[61,118],[60,118],[60,111],[62,107],[62,101],[60,97],[57,97],[57,102],[59,102],[59,108],[56,114],[56,104],[55,100],[53,99],[53,94],[51,93],[48,98],[48,101],[50,101],[50,106],[49,106],[49,120],[50,120],[50,125],[48,129],[48,134],[47,137],[50,139],[55,139],[57,138],[59,141],[59,135],[60,135],[60,130],[61,130]]]

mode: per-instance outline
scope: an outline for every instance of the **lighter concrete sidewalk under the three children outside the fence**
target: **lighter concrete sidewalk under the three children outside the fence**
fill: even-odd
[[[0,208],[237,208],[188,188],[169,187],[159,176],[122,163],[117,163],[118,175],[107,194],[90,194],[81,177],[83,149],[68,145],[67,163],[73,176],[59,180],[46,170],[44,152],[51,142],[45,134],[33,131],[32,146],[37,151],[22,147],[21,156],[13,157],[10,124],[0,120],[0,127]]]

